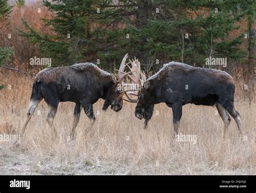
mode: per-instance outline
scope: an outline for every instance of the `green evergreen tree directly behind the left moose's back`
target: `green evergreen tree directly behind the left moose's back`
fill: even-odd
[[[56,12],[52,19],[43,19],[56,35],[40,34],[25,20],[23,24],[28,31],[19,30],[19,34],[31,43],[38,43],[44,57],[51,57],[56,65],[70,65],[85,60],[96,62],[98,51],[109,50],[103,41],[105,28],[111,25],[116,13],[102,7],[102,1],[65,0],[57,4],[45,1],[43,4]]]

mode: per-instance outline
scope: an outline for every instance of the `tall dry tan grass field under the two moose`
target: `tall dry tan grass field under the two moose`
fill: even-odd
[[[0,133],[18,134],[25,120],[33,79],[2,70]],[[8,86],[10,85],[10,86]],[[239,91],[237,92],[239,96]],[[76,140],[70,141],[73,121],[71,102],[61,103],[54,121],[58,138],[52,140],[46,123],[47,108],[39,104],[21,143],[0,142],[0,174],[3,175],[255,175],[256,105],[235,102],[242,116],[242,136],[232,119],[223,137],[223,121],[216,109],[186,105],[179,133],[196,136],[196,142],[173,138],[172,111],[156,105],[149,128],[134,116],[135,104],[122,111],[103,112],[103,101],[94,105],[96,123],[86,133],[84,113]]]

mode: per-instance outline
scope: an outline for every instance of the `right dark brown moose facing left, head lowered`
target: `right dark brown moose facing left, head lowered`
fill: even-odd
[[[144,77],[143,87],[138,91],[135,116],[145,119],[146,129],[154,105],[165,102],[172,108],[174,135],[177,136],[183,105],[213,106],[217,107],[224,122],[224,136],[231,122],[230,115],[241,134],[241,115],[234,107],[234,93],[234,80],[224,71],[171,62],[164,64],[149,79]]]

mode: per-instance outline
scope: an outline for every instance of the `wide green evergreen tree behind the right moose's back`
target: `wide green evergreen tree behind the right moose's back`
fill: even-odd
[[[225,1],[149,2],[144,6],[145,2],[137,1],[134,9],[138,8],[146,18],[138,13],[137,22],[124,30],[130,39],[118,41],[120,47],[142,55],[143,63],[152,60],[156,64],[155,61],[160,60],[163,64],[175,60],[204,66],[205,58],[209,56],[235,60],[244,56],[238,48],[242,43],[241,36],[228,39],[228,33],[238,29],[234,23],[244,14],[234,13],[237,3],[230,7],[231,12],[224,9],[230,6]]]

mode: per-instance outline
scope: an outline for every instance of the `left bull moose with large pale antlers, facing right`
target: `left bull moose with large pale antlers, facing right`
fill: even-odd
[[[119,89],[126,76],[131,78],[131,81],[138,83],[140,75],[140,63],[138,59],[130,60],[125,63],[128,58],[128,53],[124,56],[118,74],[114,75],[103,71],[92,63],[79,63],[72,66],[45,68],[40,71],[32,86],[30,97],[30,105],[27,112],[26,121],[24,123],[22,134],[31,119],[32,114],[39,102],[43,99],[48,104],[48,116],[46,121],[53,129],[53,134],[56,136],[56,130],[53,127],[53,119],[55,118],[59,102],[71,101],[75,102],[74,119],[71,131],[71,137],[75,134],[75,129],[79,122],[80,110],[83,108],[85,114],[91,122],[91,127],[95,122],[93,114],[93,104],[100,98],[104,99],[103,111],[106,111],[109,106],[113,111],[118,112],[123,106],[123,95],[127,96],[129,102],[134,102],[127,91]],[[130,72],[124,72],[128,66]]]

